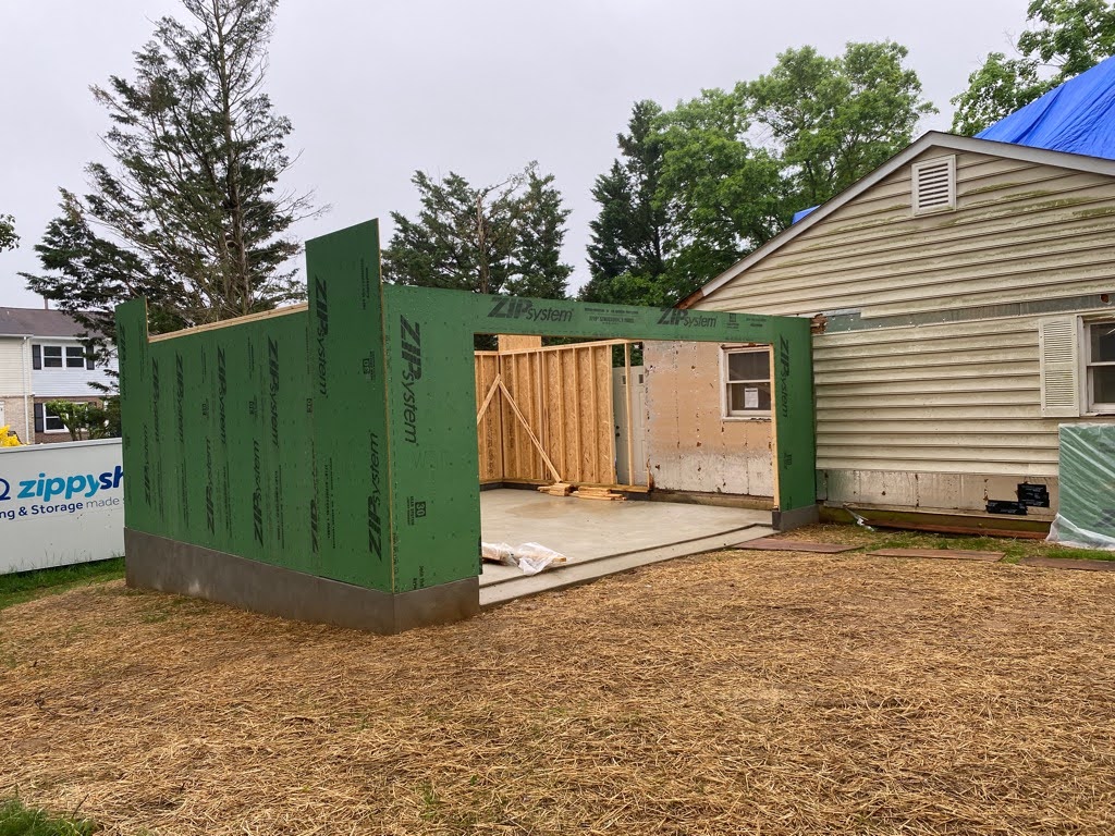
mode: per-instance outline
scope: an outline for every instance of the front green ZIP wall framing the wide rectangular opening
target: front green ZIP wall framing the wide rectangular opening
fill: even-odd
[[[477,571],[474,333],[774,346],[778,507],[816,504],[807,320],[482,297],[386,285],[397,591]]]

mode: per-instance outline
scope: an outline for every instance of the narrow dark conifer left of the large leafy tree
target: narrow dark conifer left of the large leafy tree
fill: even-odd
[[[634,104],[628,133],[617,136],[621,158],[593,184],[600,214],[589,222],[590,280],[581,289],[586,301],[646,302],[666,272],[668,218],[658,203],[665,154],[661,115],[653,101]]]

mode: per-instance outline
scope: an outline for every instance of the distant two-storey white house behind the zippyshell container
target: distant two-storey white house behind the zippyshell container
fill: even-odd
[[[51,400],[96,401],[109,385],[115,359],[94,362],[81,344],[84,329],[61,311],[0,308],[0,426],[25,444],[70,440]]]

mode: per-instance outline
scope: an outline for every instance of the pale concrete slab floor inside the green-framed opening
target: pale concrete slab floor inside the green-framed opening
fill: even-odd
[[[583,583],[613,572],[723,548],[772,533],[770,512],[661,502],[600,502],[533,490],[481,493],[485,543],[539,543],[568,563],[537,575],[485,563],[481,605]]]

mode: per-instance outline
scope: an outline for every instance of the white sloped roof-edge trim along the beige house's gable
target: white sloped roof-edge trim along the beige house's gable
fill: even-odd
[[[1090,172],[1093,174],[1103,174],[1109,177],[1115,177],[1115,159],[1085,156],[1083,154],[1069,154],[1061,150],[1049,150],[1047,148],[1036,148],[1028,145],[1017,145],[1015,143],[996,142],[992,139],[977,139],[976,137],[970,136],[958,136],[956,134],[930,130],[928,134],[923,134],[904,149],[888,159],[871,174],[861,177],[840,194],[822,203],[816,207],[816,210],[799,220],[797,223],[791,224],[765,244],[753,250],[707,284],[682,299],[678,302],[677,307],[691,308],[697,304],[700,300],[716,292],[733,279],[745,272],[753,264],[762,261],[770,253],[793,241],[803,232],[826,218],[841,206],[874,186],[892,172],[908,165],[914,157],[924,153],[929,148],[969,152],[973,154],[990,154],[992,156],[1007,157],[1009,159],[1018,159],[1026,163],[1054,165],[1061,168],[1072,168],[1075,171]]]

